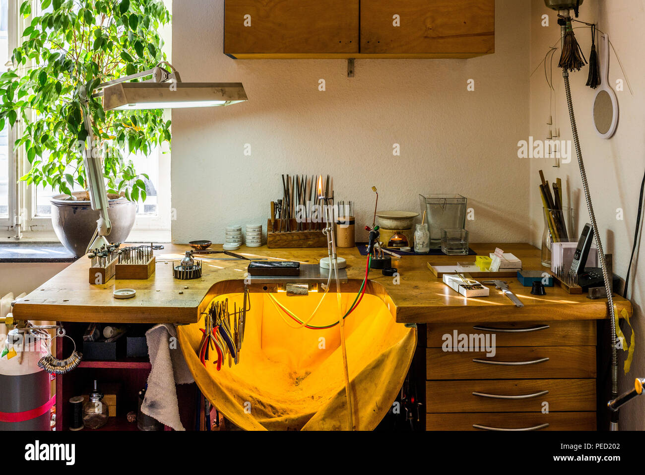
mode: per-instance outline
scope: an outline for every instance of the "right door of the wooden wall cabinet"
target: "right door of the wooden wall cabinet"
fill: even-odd
[[[495,50],[495,0],[361,0],[361,53],[471,57]]]

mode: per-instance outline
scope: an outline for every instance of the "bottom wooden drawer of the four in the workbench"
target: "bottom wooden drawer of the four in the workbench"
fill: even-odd
[[[596,413],[426,414],[426,430],[596,430]]]

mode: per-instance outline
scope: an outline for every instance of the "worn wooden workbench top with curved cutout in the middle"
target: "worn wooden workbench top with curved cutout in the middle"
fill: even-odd
[[[471,244],[479,255],[488,255],[495,247],[512,252],[522,259],[524,269],[542,270],[540,250],[528,244]],[[221,245],[213,245],[221,249]],[[172,265],[183,257],[187,245],[166,245],[155,251],[157,270],[148,280],[115,280],[105,285],[88,284],[90,261],[78,259],[41,287],[15,304],[14,318],[54,321],[87,321],[111,323],[194,323],[210,300],[218,294],[240,292],[246,275],[246,261],[215,260],[228,258],[224,254],[203,256],[201,279],[175,280]],[[235,251],[254,259],[268,258],[317,263],[326,257],[326,248],[268,249],[241,247]],[[366,257],[357,248],[339,249],[347,259],[350,287],[362,281]],[[474,261],[475,256],[459,256],[459,261]],[[381,296],[390,311],[401,323],[430,323],[467,321],[553,321],[602,319],[606,315],[606,299],[591,300],[582,295],[570,295],[560,287],[547,287],[546,296],[532,296],[530,288],[522,287],[517,279],[505,278],[509,287],[524,303],[517,308],[501,292],[491,288],[486,298],[464,298],[442,283],[428,270],[427,263],[455,262],[455,256],[403,256],[392,259],[399,269],[400,283],[386,277],[380,270],[370,271],[367,291]],[[135,298],[115,299],[115,288],[134,288]],[[261,291],[261,289],[259,289]],[[615,297],[619,311],[625,308],[631,315],[631,303]]]

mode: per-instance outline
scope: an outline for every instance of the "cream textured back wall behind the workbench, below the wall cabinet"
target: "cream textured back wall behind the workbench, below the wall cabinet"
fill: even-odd
[[[372,223],[375,185],[381,210],[419,211],[419,193],[460,193],[475,209],[473,242],[528,239],[529,163],[516,146],[528,136],[528,0],[495,2],[491,56],[357,59],[353,78],[343,60],[224,56],[223,3],[174,5],[173,63],[183,81],[239,81],[249,97],[173,112],[175,242],[223,242],[228,224],[266,223],[286,173],[331,174],[337,199],[357,203],[357,229]]]

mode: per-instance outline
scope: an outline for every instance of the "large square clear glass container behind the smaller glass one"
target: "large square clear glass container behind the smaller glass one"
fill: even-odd
[[[441,248],[442,229],[466,227],[466,197],[457,194],[419,195],[421,212],[427,216],[430,248]]]

